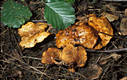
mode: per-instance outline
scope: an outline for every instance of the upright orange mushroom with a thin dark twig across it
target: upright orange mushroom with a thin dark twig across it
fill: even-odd
[[[101,42],[95,47],[95,49],[101,49],[106,46],[113,35],[113,29],[105,17],[96,17],[95,14],[89,15],[88,24],[98,31],[98,35],[101,38]]]

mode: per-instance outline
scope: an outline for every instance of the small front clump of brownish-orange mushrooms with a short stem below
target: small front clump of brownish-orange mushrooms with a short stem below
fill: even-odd
[[[68,65],[68,70],[75,71],[74,66],[83,67],[87,60],[87,53],[81,46],[74,47],[68,45],[63,50],[58,48],[48,48],[42,53],[43,64]]]

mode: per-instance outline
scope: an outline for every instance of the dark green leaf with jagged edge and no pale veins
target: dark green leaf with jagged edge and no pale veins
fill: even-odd
[[[29,20],[32,13],[22,4],[18,4],[13,0],[8,0],[2,5],[1,21],[3,24],[12,28],[19,28],[26,20]]]

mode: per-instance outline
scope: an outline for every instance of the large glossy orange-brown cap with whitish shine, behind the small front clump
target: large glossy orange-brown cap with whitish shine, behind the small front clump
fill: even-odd
[[[93,48],[97,39],[97,33],[92,27],[86,24],[73,25],[56,34],[56,46],[61,48],[69,44],[80,44],[87,48]]]

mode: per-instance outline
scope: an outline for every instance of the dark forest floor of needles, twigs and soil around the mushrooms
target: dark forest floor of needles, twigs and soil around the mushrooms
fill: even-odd
[[[1,1],[0,4],[5,1]],[[20,0],[17,2],[21,3]],[[127,9],[125,3],[115,1],[94,3],[92,0],[91,2],[76,0],[73,7],[77,17],[90,13],[100,16],[102,12],[108,12],[119,16],[119,19],[110,22],[114,29],[114,37],[110,43],[99,51],[87,49],[86,65],[76,68],[74,73],[69,72],[66,66],[41,63],[42,53],[49,47],[55,47],[54,36],[48,37],[33,48],[22,49],[19,46],[21,38],[18,35],[18,29],[8,28],[0,22],[1,80],[122,80],[127,76],[127,34],[122,35],[120,30],[121,19],[127,18],[124,13]],[[44,20],[43,0],[26,0],[25,4],[29,6],[33,14],[29,21]]]

